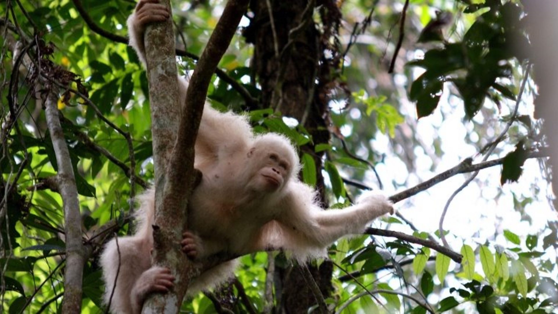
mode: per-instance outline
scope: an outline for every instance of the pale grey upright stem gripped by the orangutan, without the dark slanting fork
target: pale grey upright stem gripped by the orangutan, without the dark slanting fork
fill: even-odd
[[[161,4],[170,8],[169,0],[161,1]],[[181,106],[178,100],[175,41],[170,18],[166,22],[147,26],[145,48],[155,169],[152,264],[169,267],[176,278],[176,284],[187,287],[187,279],[184,280],[179,271],[183,256],[179,248],[172,246],[180,239],[181,221],[185,220],[185,215],[180,212],[176,215],[167,204],[163,206],[166,170],[179,129]],[[176,223],[173,226],[173,221],[178,222],[178,226]],[[182,298],[179,298],[175,289],[166,294],[151,294],[143,304],[142,313],[177,313],[181,301]]]

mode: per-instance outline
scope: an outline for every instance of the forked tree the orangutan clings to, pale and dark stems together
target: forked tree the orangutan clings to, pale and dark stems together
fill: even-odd
[[[169,6],[169,3],[167,2],[166,5]],[[170,293],[153,294],[149,297],[143,306],[143,313],[177,313],[186,294],[190,278],[199,271],[194,269],[186,255],[180,251],[179,245],[176,245],[180,242],[182,231],[187,225],[187,198],[193,191],[196,177],[198,177],[194,170],[194,144],[211,76],[227,50],[247,6],[248,0],[229,0],[227,2],[190,79],[186,92],[186,103],[182,107],[180,115],[175,113],[172,116],[174,112],[172,108],[169,108],[170,104],[175,108],[180,108],[182,105],[177,103],[178,89],[172,22],[169,20],[166,25],[153,25],[164,28],[156,28],[153,34],[149,32],[149,28],[146,31],[146,59],[153,120],[153,154],[160,154],[156,159],[155,168],[157,182],[155,226],[153,227],[155,250],[152,260],[153,264],[172,265],[172,273],[176,280],[175,288]],[[157,58],[157,56],[160,57]],[[168,90],[169,86],[161,86],[161,84],[171,84],[169,83],[170,75],[174,79],[174,82],[171,82],[174,84],[172,91]],[[164,88],[167,88],[167,91]],[[172,99],[169,99],[171,93],[174,94],[172,94]],[[177,116],[180,116],[179,121],[169,122],[172,117]],[[156,127],[161,129],[156,129]],[[175,133],[177,136],[172,136]],[[156,150],[156,136],[158,137],[158,150]],[[161,136],[165,138],[161,138]],[[169,142],[170,139],[174,142]],[[169,146],[170,144],[173,145]],[[169,152],[170,148],[172,148],[171,152]],[[181,219],[177,219],[177,217]]]

